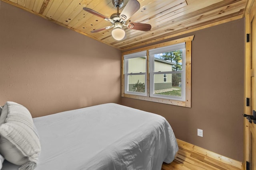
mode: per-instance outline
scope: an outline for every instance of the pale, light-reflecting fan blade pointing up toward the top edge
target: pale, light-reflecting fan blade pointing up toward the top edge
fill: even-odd
[[[129,0],[120,14],[120,18],[124,21],[128,20],[135,12],[140,9],[140,3],[137,0]]]

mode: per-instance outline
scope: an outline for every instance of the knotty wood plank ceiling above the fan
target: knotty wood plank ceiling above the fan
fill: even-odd
[[[112,0],[2,0],[68,27],[122,51],[244,17],[247,0],[138,0],[140,9],[129,19],[149,23],[150,31],[125,28],[126,38],[116,41],[112,29],[91,33],[112,24],[83,10],[104,16],[116,13]],[[124,0],[124,6],[128,0]],[[120,12],[122,12],[122,7]],[[124,28],[124,27],[123,27]]]

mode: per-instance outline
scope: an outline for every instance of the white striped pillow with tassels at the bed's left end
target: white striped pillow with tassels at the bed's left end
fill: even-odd
[[[9,162],[33,170],[41,146],[32,116],[26,107],[6,102],[0,115],[0,153]]]

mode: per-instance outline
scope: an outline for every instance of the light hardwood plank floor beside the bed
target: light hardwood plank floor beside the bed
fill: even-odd
[[[162,170],[241,170],[241,168],[237,167],[235,161],[234,165],[232,165],[232,160],[231,163],[225,162],[226,160],[218,161],[216,158],[206,156],[207,154],[199,153],[196,150],[193,150],[194,147],[190,149],[188,147],[186,148],[181,146],[182,144],[179,141],[178,145],[178,156],[172,163],[164,163],[162,165]]]

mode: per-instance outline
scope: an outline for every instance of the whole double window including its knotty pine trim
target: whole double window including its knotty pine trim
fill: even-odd
[[[122,53],[122,97],[191,107],[193,38]]]

